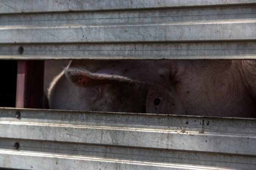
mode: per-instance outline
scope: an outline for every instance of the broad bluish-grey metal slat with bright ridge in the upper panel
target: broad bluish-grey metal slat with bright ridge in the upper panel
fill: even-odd
[[[157,9],[55,14],[53,18],[52,14],[6,15],[0,43],[255,40],[255,9],[254,5]]]

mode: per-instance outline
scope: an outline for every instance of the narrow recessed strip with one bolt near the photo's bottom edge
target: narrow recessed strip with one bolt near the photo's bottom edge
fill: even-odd
[[[3,139],[0,138],[0,150],[3,154],[12,155],[15,151],[13,150],[14,144],[17,139]],[[56,155],[71,157],[87,157],[94,161],[98,160],[126,160],[137,162],[158,162],[158,163],[168,163],[169,164],[182,164],[182,165],[197,165],[199,167],[204,166],[218,166],[218,167],[228,167],[237,169],[253,169],[255,167],[256,158],[248,157],[242,155],[221,155],[211,153],[198,153],[198,152],[184,152],[177,150],[156,150],[150,148],[130,148],[130,147],[115,147],[110,145],[93,145],[93,144],[77,144],[68,142],[49,142],[49,141],[35,141],[35,140],[22,140],[18,139],[19,150],[16,152],[16,156],[19,157],[24,152],[29,154],[41,154],[48,156],[53,153]],[[19,154],[19,151],[21,153]],[[15,158],[15,155],[13,156]],[[43,158],[40,158],[43,159]],[[13,160],[13,159],[12,159]],[[33,161],[33,162],[38,162]],[[58,161],[57,161],[58,162]],[[13,162],[16,164],[16,162]],[[56,165],[54,164],[51,164]],[[58,162],[58,165],[61,164]],[[27,164],[28,166],[28,164]],[[32,165],[35,167],[35,165]],[[57,165],[56,165],[57,166]],[[41,169],[41,168],[40,168]],[[45,169],[45,168],[43,168]]]

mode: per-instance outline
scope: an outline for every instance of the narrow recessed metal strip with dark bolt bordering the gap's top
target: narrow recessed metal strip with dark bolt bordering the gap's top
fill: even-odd
[[[24,52],[19,54],[20,46]],[[256,42],[0,45],[0,59],[255,59]]]

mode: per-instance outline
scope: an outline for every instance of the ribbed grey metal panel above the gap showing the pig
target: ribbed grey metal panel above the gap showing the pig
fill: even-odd
[[[0,17],[0,59],[256,59],[256,1],[147,2],[155,9],[84,3],[80,12],[11,14],[17,3],[2,1],[10,12]]]

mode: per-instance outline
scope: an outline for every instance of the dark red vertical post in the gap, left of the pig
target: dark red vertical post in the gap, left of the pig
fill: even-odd
[[[44,96],[44,60],[18,61],[17,108],[42,108]]]

